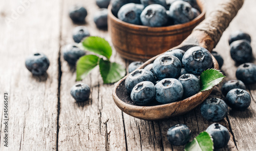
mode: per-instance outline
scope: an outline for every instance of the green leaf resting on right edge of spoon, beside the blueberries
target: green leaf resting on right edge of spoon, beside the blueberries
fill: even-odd
[[[225,76],[216,69],[207,69],[200,75],[201,91],[210,90],[219,84]]]

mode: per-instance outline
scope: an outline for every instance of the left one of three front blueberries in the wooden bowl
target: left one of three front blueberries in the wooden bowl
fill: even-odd
[[[118,11],[118,18],[126,23],[141,25],[140,14],[143,7],[139,4],[129,3],[125,4]]]

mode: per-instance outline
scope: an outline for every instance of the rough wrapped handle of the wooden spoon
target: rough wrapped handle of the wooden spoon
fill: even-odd
[[[197,43],[212,51],[218,44],[222,33],[243,6],[244,0],[224,0],[202,21],[183,42],[184,45]],[[195,39],[196,38],[196,39]],[[196,40],[196,41],[195,41]]]

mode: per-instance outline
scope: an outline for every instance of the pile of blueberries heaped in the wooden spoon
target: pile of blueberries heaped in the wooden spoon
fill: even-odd
[[[129,72],[140,63],[131,63]],[[148,105],[153,100],[161,104],[180,101],[199,92],[198,76],[212,66],[211,54],[205,48],[192,47],[186,52],[169,50],[144,69],[127,76],[125,88],[138,105]]]

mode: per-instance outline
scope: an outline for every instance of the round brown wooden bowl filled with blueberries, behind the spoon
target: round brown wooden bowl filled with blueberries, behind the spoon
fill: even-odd
[[[121,57],[129,60],[148,60],[170,48],[178,46],[205,18],[202,0],[197,0],[198,17],[185,24],[167,27],[147,27],[125,23],[108,8],[108,27],[112,42]]]

